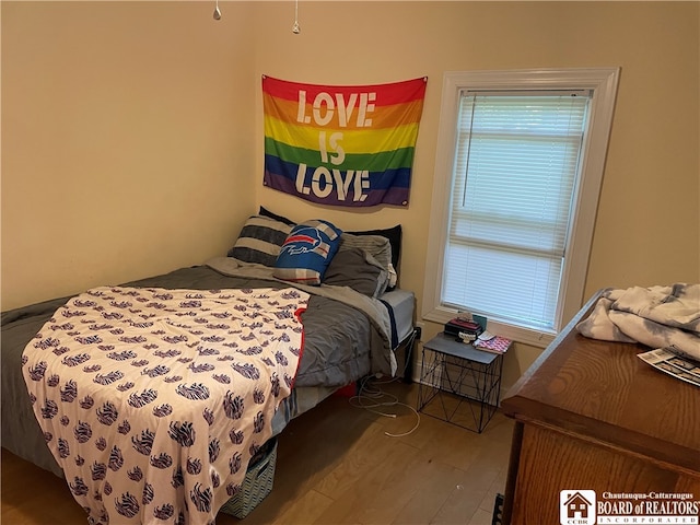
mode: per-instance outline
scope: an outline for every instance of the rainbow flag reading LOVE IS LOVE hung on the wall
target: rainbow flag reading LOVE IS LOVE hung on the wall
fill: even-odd
[[[427,83],[262,77],[264,184],[324,205],[407,206]]]

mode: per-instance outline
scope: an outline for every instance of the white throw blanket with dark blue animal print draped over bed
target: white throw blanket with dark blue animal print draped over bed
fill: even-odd
[[[91,524],[214,523],[291,392],[307,301],[104,287],[56,312],[23,373]]]

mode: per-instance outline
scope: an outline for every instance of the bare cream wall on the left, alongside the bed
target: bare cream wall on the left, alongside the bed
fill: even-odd
[[[253,210],[250,5],[2,2],[2,308],[222,255]]]

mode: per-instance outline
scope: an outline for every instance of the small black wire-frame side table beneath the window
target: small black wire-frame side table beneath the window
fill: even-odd
[[[503,354],[438,334],[423,345],[418,410],[481,433],[499,406]]]

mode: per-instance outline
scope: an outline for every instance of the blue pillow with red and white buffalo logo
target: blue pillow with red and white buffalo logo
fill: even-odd
[[[273,276],[284,281],[318,285],[340,245],[340,234],[328,221],[296,224],[280,248]]]

